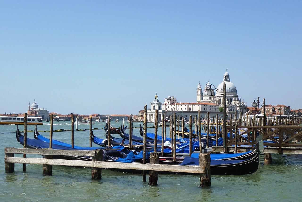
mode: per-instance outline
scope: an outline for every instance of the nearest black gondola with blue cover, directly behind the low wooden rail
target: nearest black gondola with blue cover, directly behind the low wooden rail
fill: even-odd
[[[17,140],[20,144],[24,144],[24,136],[19,132],[18,126],[17,126],[17,131],[16,131],[16,137]],[[30,139],[27,138],[27,148],[37,148],[37,149],[42,149],[42,148],[48,148],[49,143],[37,139]],[[142,159],[142,152],[134,154],[132,151],[126,150],[123,147],[120,146],[120,151],[108,151],[106,148],[98,148],[98,147],[77,147],[77,148],[72,148],[68,146],[63,146],[63,145],[57,145],[53,144],[53,149],[67,149],[67,150],[95,150],[95,149],[101,149],[104,151],[104,160],[105,161],[117,161],[117,162],[141,162]],[[126,151],[125,153],[122,151]],[[119,153],[122,152],[122,153]],[[147,152],[148,153],[148,152]],[[238,174],[252,174],[256,172],[259,169],[259,143],[256,145],[256,150],[251,152],[251,158],[249,159],[242,159],[242,160],[233,160],[233,159],[239,159],[240,155],[237,154],[236,157],[227,157],[228,154],[222,154],[221,157],[225,157],[224,159],[216,160],[211,157],[211,174],[212,175],[238,175]],[[148,153],[149,154],[149,153]],[[147,154],[147,156],[148,156]],[[114,155],[114,156],[113,156]],[[246,154],[243,154],[246,156]],[[66,156],[56,156],[57,158],[63,158],[67,159]],[[69,157],[72,159],[80,159],[80,160],[86,160],[86,161],[91,161],[91,158],[89,157]],[[112,158],[108,159],[108,158]],[[148,157],[147,157],[148,159]],[[177,157],[176,161],[171,161],[171,157],[160,157],[160,164],[180,164],[180,165],[195,165],[196,164],[196,159],[198,158],[193,158],[193,157]],[[195,162],[195,163],[194,163]],[[147,161],[148,163],[148,161]],[[193,164],[194,163],[194,164]],[[198,166],[196,164],[196,166]],[[129,171],[129,170],[127,170]],[[132,170],[129,172],[136,173],[137,170]]]

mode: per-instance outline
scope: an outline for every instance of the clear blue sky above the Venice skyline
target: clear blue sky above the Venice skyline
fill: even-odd
[[[1,113],[138,114],[196,102],[226,68],[239,98],[302,108],[302,1],[0,2]]]

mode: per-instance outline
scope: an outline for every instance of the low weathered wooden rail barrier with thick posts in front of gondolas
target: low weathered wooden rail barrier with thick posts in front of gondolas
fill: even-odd
[[[164,171],[175,173],[200,174],[200,186],[210,186],[210,154],[200,154],[200,166],[181,166],[156,164],[159,162],[159,154],[150,154],[150,163],[120,163],[115,161],[103,161],[103,151],[80,151],[80,150],[52,150],[52,149],[25,149],[5,148],[5,172],[14,172],[14,164],[43,164],[43,175],[52,175],[52,165],[65,165],[75,167],[91,167],[91,178],[101,179],[102,168],[112,170],[141,170],[141,171]],[[14,154],[38,154],[43,158],[14,157]],[[62,157],[86,156],[91,161],[60,159]],[[151,174],[151,172],[150,172]],[[149,184],[157,185],[158,173],[149,175]]]

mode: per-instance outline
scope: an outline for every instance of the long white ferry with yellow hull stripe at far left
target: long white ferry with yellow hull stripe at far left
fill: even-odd
[[[24,117],[0,116],[0,124],[24,125]],[[27,125],[43,125],[41,117],[27,117]]]

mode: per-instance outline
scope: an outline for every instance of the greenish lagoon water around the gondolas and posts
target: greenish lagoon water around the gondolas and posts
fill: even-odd
[[[104,122],[92,128],[104,127]],[[114,127],[120,123],[111,122]],[[126,123],[125,123],[126,124]],[[140,123],[133,123],[138,127]],[[152,123],[148,123],[152,126]],[[50,130],[50,122],[37,126],[39,131]],[[89,125],[79,125],[88,129]],[[19,126],[24,129],[23,125]],[[71,129],[70,121],[54,122],[53,130]],[[34,126],[28,126],[34,130]],[[159,175],[158,186],[142,182],[143,176],[102,170],[101,180],[91,180],[90,168],[53,166],[52,176],[42,175],[42,165],[15,164],[14,173],[5,173],[4,148],[22,148],[16,140],[16,125],[0,125],[0,201],[300,201],[302,194],[302,155],[272,154],[273,163],[261,164],[255,174],[240,176],[211,176],[211,187],[199,187],[199,176]],[[128,129],[127,131],[128,132]],[[154,128],[148,128],[154,132]],[[93,133],[105,138],[104,130]],[[49,137],[49,132],[40,133]],[[139,136],[139,129],[133,129]],[[161,128],[159,128],[161,134]],[[169,134],[169,128],[167,131]],[[28,133],[28,138],[34,138]],[[53,139],[70,143],[71,132],[54,132]],[[89,147],[89,131],[75,131],[75,145]],[[96,146],[95,144],[93,146]],[[22,154],[21,154],[22,155]],[[16,157],[21,157],[15,154]],[[37,155],[27,155],[37,157]]]

